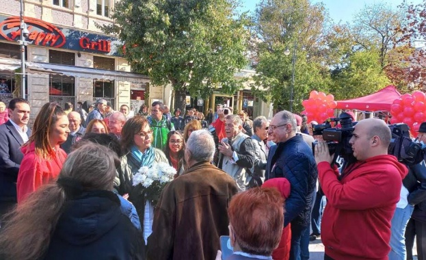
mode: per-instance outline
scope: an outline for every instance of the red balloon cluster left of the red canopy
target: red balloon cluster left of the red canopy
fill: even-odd
[[[320,124],[334,116],[334,109],[337,102],[334,101],[332,94],[326,95],[323,92],[312,90],[309,94],[309,99],[302,101],[305,110],[302,114],[308,116],[308,121],[315,120]]]

